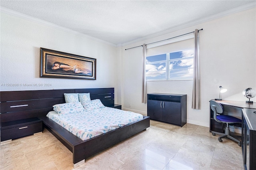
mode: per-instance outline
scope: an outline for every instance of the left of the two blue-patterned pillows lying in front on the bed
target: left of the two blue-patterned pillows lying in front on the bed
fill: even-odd
[[[84,107],[80,102],[63,103],[52,106],[53,110],[59,115],[66,113],[85,112]]]

